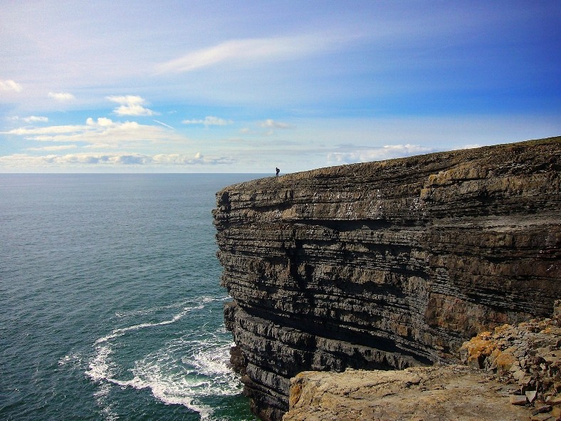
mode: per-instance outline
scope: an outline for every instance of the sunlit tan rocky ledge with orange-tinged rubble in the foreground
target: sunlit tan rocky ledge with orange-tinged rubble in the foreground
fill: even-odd
[[[300,373],[283,421],[561,420],[561,301],[552,318],[463,344],[463,363],[397,371]]]

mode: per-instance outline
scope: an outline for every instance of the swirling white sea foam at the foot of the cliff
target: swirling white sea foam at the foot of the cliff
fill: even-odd
[[[189,336],[176,338],[155,353],[145,355],[130,369],[132,378],[123,379],[122,368],[112,362],[112,340],[130,331],[152,328],[179,321],[189,312],[204,308],[211,301],[224,301],[222,298],[199,298],[197,305],[184,306],[182,311],[168,320],[154,323],[137,323],[125,328],[114,329],[107,336],[95,341],[95,356],[85,373],[100,382],[96,393],[99,404],[105,403],[110,385],[135,389],[149,388],[158,400],[167,404],[184,405],[199,412],[201,420],[209,420],[213,409],[203,400],[217,395],[237,395],[241,391],[237,375],[229,368],[230,340],[224,339],[224,326],[211,333],[201,328]],[[185,305],[187,301],[183,301]],[[191,304],[192,301],[190,301]],[[177,303],[176,303],[177,304]],[[176,305],[152,308],[150,311],[174,308]],[[187,354],[187,355],[186,355]],[[118,377],[118,378],[117,378]],[[105,404],[109,409],[110,406]],[[109,420],[109,412],[106,419]]]

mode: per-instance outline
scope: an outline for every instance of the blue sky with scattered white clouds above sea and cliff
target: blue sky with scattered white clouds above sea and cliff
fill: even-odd
[[[0,0],[0,172],[283,174],[555,135],[559,0]]]

